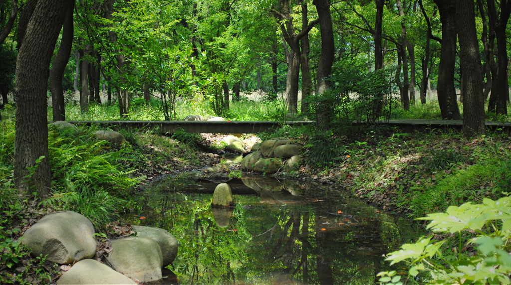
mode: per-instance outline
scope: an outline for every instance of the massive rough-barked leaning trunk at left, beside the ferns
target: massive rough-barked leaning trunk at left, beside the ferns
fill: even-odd
[[[20,193],[49,193],[46,91],[50,61],[71,0],[39,0],[16,62],[14,183]]]

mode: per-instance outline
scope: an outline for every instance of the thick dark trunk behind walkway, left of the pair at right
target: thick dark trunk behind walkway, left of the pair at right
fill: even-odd
[[[456,89],[454,88],[454,64],[456,62],[456,10],[454,0],[434,0],[442,22],[442,47],[438,66],[437,96],[442,119],[459,120]]]

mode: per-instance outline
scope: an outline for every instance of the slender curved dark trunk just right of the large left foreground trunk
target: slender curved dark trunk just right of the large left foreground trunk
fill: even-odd
[[[55,59],[53,60],[52,69],[50,69],[50,92],[52,93],[52,114],[53,121],[65,121],[64,110],[64,90],[62,88],[62,76],[71,56],[73,47],[74,25],[73,25],[73,5],[67,8],[62,29],[62,39],[60,47]]]

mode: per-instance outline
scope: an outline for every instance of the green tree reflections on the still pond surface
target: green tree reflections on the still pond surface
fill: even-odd
[[[398,236],[372,208],[357,205],[334,215],[326,209],[332,202],[275,206],[236,198],[226,227],[216,223],[211,195],[167,191],[146,201],[154,215],[145,214],[143,223],[166,228],[179,241],[171,269],[180,283],[372,283],[385,270],[385,244]]]

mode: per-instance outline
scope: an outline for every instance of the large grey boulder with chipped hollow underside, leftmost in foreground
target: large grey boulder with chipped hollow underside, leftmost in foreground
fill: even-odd
[[[94,226],[84,216],[56,212],[44,216],[23,235],[22,243],[34,256],[48,255],[47,261],[69,264],[96,254]]]

